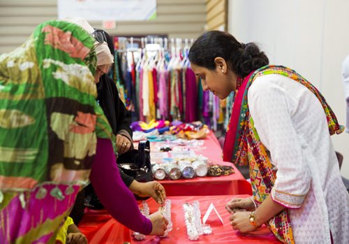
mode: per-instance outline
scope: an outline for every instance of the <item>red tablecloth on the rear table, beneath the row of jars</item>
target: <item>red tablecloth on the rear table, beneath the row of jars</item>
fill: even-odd
[[[232,166],[235,173],[218,177],[197,177],[190,180],[159,180],[168,196],[252,194],[251,184],[244,179],[235,165],[222,161],[221,145],[212,131],[205,139],[203,150],[196,153],[204,155],[214,164]]]

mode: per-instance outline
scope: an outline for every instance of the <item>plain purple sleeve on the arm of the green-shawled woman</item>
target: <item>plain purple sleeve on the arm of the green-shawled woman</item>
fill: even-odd
[[[122,182],[112,143],[97,139],[96,159],[90,174],[91,184],[110,215],[133,231],[148,235],[152,225],[138,208],[135,197]]]

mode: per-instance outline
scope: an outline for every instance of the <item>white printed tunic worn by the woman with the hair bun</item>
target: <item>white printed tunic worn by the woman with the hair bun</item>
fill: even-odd
[[[276,167],[272,199],[290,209],[296,243],[349,243],[349,194],[317,97],[281,75],[255,79],[248,106]],[[335,136],[335,135],[334,135]]]

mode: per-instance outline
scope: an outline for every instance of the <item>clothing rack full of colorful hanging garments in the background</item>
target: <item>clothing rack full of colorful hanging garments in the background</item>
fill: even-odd
[[[225,103],[202,92],[191,70],[188,52],[193,42],[190,38],[117,37],[118,60],[112,77],[133,121],[202,120],[217,129],[228,117]]]

